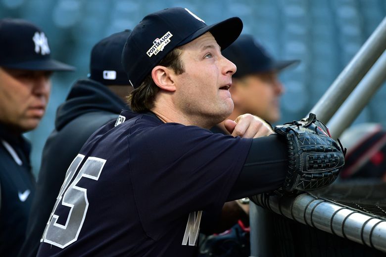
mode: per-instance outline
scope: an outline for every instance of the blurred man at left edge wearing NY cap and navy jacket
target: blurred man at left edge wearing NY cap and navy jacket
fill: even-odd
[[[53,60],[45,33],[20,19],[0,20],[0,256],[16,256],[35,194],[30,143],[22,135],[43,118],[53,71],[74,68]]]

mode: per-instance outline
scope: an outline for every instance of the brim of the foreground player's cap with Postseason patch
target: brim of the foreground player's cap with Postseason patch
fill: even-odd
[[[192,35],[181,41],[178,46],[192,42],[206,32],[210,32],[216,42],[220,45],[221,50],[224,50],[240,36],[241,31],[241,19],[239,17],[233,17],[197,30]]]

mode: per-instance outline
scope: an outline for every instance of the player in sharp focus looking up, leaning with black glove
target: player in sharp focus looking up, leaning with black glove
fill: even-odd
[[[122,63],[136,113],[121,112],[84,144],[38,256],[195,256],[202,211],[334,181],[343,154],[315,117],[277,127],[278,134],[252,115],[226,123],[244,137],[208,130],[233,110],[236,66],[221,49],[241,29],[240,18],[208,26],[181,7],[151,13],[133,29]],[[303,137],[311,142],[302,152]],[[323,147],[318,154],[333,169],[310,161]]]

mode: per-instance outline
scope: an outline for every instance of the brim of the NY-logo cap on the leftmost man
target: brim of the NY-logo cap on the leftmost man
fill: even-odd
[[[39,60],[39,61],[34,60],[34,61],[19,62],[19,63],[13,63],[13,64],[0,64],[0,66],[11,68],[11,69],[31,70],[31,71],[74,71],[75,70],[75,67],[53,59]]]

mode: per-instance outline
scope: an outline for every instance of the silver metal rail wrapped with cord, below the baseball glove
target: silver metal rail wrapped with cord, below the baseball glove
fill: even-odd
[[[386,219],[317,198],[308,193],[278,197],[258,195],[255,203],[311,227],[386,252]]]

